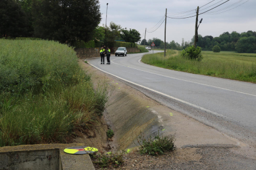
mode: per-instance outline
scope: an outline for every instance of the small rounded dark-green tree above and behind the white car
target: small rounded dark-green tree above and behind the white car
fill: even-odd
[[[121,38],[124,39],[124,41],[126,41],[126,42],[135,43],[135,42],[140,41],[140,33],[139,33],[139,31],[134,30],[134,29],[130,29],[129,31],[123,29],[123,30],[121,31],[120,36],[121,36]]]

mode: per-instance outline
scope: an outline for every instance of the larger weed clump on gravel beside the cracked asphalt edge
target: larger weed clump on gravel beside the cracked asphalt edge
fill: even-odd
[[[160,136],[159,131],[155,137],[149,136],[146,138],[144,134],[140,134],[137,142],[140,145],[139,151],[141,154],[163,155],[164,152],[175,149],[174,136]]]

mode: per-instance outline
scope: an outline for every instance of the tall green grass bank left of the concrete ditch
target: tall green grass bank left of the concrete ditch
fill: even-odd
[[[106,86],[93,89],[71,48],[0,39],[0,49],[0,147],[67,142],[96,124]]]

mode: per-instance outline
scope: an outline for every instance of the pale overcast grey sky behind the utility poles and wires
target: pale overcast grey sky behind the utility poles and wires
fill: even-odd
[[[132,28],[140,32],[145,33],[145,28],[150,30],[165,15],[165,9],[169,17],[178,17],[187,15],[189,17],[195,15],[197,6],[201,7],[201,12],[204,12],[212,7],[218,6],[226,0],[158,0],[158,1],[146,1],[146,0],[100,0],[100,10],[102,14],[102,20],[100,25],[102,26],[106,22],[106,3],[108,3],[108,19],[107,25],[110,22],[114,22],[121,25],[122,28]],[[232,4],[240,3],[231,6]],[[202,36],[211,35],[213,37],[220,36],[220,34],[229,31],[237,31],[239,33],[252,30],[256,31],[256,0],[229,0],[225,4],[213,9],[209,12],[223,9],[231,6],[236,7],[235,9],[221,10],[224,12],[221,14],[207,15],[207,13],[199,15],[198,20],[203,18],[203,22],[199,26],[198,34]],[[211,2],[207,6],[204,6],[208,2]],[[218,4],[215,4],[219,2]],[[215,4],[215,5],[214,5]],[[213,5],[213,6],[211,6]],[[204,6],[204,7],[202,7]],[[211,6],[211,7],[210,7]],[[204,10],[203,10],[204,9]],[[186,14],[173,15],[175,13],[193,10]],[[220,13],[217,12],[217,13]],[[199,12],[200,13],[200,12]],[[153,29],[154,30],[154,29]],[[186,19],[167,19],[166,27],[166,41],[170,42],[174,40],[181,44],[182,38],[185,41],[191,41],[195,34],[195,17]],[[146,39],[160,38],[164,41],[164,23],[153,33],[147,33]]]

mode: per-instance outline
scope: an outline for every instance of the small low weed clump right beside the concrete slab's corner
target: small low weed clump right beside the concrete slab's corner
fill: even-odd
[[[122,150],[121,152],[109,152],[105,154],[103,152],[91,153],[93,163],[98,164],[101,168],[117,168],[124,163],[123,157],[127,152]]]

